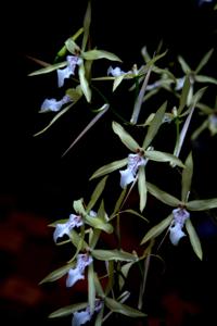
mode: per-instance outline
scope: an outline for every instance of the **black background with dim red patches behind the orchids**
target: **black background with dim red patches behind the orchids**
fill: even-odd
[[[144,45],[153,53],[161,40],[164,49],[168,49],[168,61],[174,62],[181,54],[192,67],[197,65],[204,53],[215,48],[206,73],[217,77],[217,17],[213,5],[199,5],[193,0],[93,0],[92,43],[120,57],[126,71],[133,63],[142,64],[140,50]],[[87,1],[63,0],[50,4],[46,1],[29,1],[8,4],[3,10],[0,303],[2,319],[5,318],[5,322],[2,325],[15,321],[26,325],[69,325],[67,318],[49,321],[47,315],[60,306],[71,304],[71,300],[76,300],[76,289],[65,289],[62,280],[38,286],[41,278],[67,260],[67,254],[52,242],[52,230],[47,225],[68,216],[73,200],[86,195],[84,188],[92,172],[100,164],[111,161],[111,149],[115,159],[126,154],[125,150],[117,148],[115,141],[108,142],[112,141],[111,121],[116,118],[113,113],[108,113],[102,124],[98,124],[94,130],[62,158],[93,116],[91,112],[85,111],[85,105],[72,110],[43,135],[33,137],[51,118],[50,114],[40,115],[38,111],[46,97],[55,96],[56,80],[51,75],[27,76],[38,65],[26,55],[52,62],[65,39],[81,26],[86,7]],[[102,68],[106,72],[106,65],[102,64]],[[178,73],[181,76],[181,72]],[[105,91],[111,95],[110,90]],[[213,88],[213,93],[207,98],[210,105],[214,104],[215,91],[216,88]],[[123,102],[122,98],[118,110],[126,116],[130,112],[127,110],[131,110],[127,104],[127,100]],[[92,148],[90,142],[94,143]],[[201,198],[216,197],[216,137],[210,138],[208,133],[204,133],[200,141],[192,146],[197,158],[194,178],[196,192]],[[154,173],[161,183],[161,171]],[[155,269],[153,263],[146,294],[148,298],[150,296],[150,300],[146,299],[149,325],[209,325],[215,317],[212,303],[213,296],[215,301],[216,289],[213,249],[217,244],[213,223],[215,212],[208,215],[207,221],[212,223],[199,225],[205,251],[203,262],[199,262],[189,249],[189,243],[183,242],[176,251],[169,249],[169,246],[164,248],[166,273],[156,273],[161,266],[156,265]],[[201,217],[203,222],[205,218],[202,214]],[[170,256],[175,264],[170,262]],[[177,314],[173,315],[174,311]],[[133,325],[135,321],[130,322]]]

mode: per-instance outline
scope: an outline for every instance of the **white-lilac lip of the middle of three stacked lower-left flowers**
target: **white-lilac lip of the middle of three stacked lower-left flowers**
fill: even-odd
[[[66,287],[72,287],[77,280],[85,278],[85,268],[92,263],[92,258],[87,254],[77,255],[77,264],[75,268],[68,271],[66,278]]]

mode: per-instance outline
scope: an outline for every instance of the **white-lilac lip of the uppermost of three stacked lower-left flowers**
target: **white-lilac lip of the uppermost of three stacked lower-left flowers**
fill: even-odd
[[[53,240],[56,242],[58,238],[62,238],[64,235],[69,236],[69,233],[74,227],[79,227],[82,224],[84,223],[80,215],[71,214],[68,222],[56,224],[55,230],[53,233]]]

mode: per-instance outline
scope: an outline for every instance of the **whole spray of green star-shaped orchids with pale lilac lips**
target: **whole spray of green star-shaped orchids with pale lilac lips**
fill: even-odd
[[[51,272],[41,284],[66,277],[66,287],[73,287],[80,281],[87,285],[87,300],[85,302],[61,308],[50,315],[50,317],[62,317],[72,314],[73,326],[84,325],[90,321],[94,321],[94,325],[100,326],[115,313],[128,317],[144,318],[146,316],[145,306],[142,303],[144,286],[138,288],[137,306],[125,303],[130,299],[130,291],[127,289],[129,271],[140,265],[141,272],[141,261],[145,262],[150,254],[154,255],[155,243],[162,236],[164,236],[164,241],[170,241],[170,246],[181,246],[181,239],[183,237],[188,238],[189,246],[192,247],[196,256],[202,260],[203,246],[194,228],[191,212],[217,208],[217,198],[204,200],[193,198],[191,191],[193,152],[190,150],[187,158],[181,154],[184,140],[189,137],[189,126],[193,114],[201,112],[207,118],[190,136],[192,139],[200,137],[200,134],[206,127],[210,131],[210,137],[217,134],[217,101],[215,108],[201,102],[204,92],[207,91],[207,85],[212,85],[212,87],[217,85],[214,77],[200,74],[213,55],[214,50],[210,49],[204,55],[195,70],[191,68],[182,57],[179,57],[178,64],[180,64],[183,75],[175,76],[168,67],[158,66],[158,62],[166,55],[167,51],[156,52],[151,57],[146,47],[144,47],[141,50],[143,64],[140,67],[138,67],[138,64],[132,64],[129,71],[125,72],[120,66],[122,60],[116,54],[89,48],[90,22],[91,7],[89,3],[84,18],[84,26],[65,41],[63,48],[58,52],[54,64],[44,63],[42,68],[30,74],[34,76],[56,73],[56,86],[63,91],[61,100],[53,98],[42,100],[39,112],[52,112],[51,114],[54,114],[54,117],[47,127],[36,135],[48,130],[61,115],[65,114],[80,99],[84,99],[87,105],[91,105],[94,90],[98,88],[93,85],[98,83],[110,83],[112,80],[111,90],[115,92],[117,88],[120,88],[120,84],[127,79],[128,83],[131,82],[129,91],[136,95],[130,121],[123,118],[122,121],[111,122],[111,131],[125,146],[126,155],[116,158],[115,161],[106,163],[93,172],[90,181],[98,178],[100,180],[90,195],[89,201],[82,197],[75,199],[73,202],[74,212],[69,213],[69,217],[50,224],[54,228],[54,242],[59,246],[71,243],[73,256],[64,266]],[[78,39],[81,36],[81,45],[79,45]],[[107,63],[104,76],[92,76],[92,65],[99,59],[114,61],[115,64]],[[152,83],[150,82],[151,76]],[[66,79],[68,79],[67,85],[72,83],[72,87],[65,90]],[[199,88],[197,84],[200,83],[204,84],[205,87]],[[174,95],[173,108],[165,101],[159,108],[154,108],[152,113],[146,114],[145,121],[139,121],[143,103],[150,101],[153,96],[156,97],[159,90]],[[80,140],[94,126],[94,123],[100,121],[101,116],[110,110],[110,101],[104,102],[104,97],[101,98],[102,105],[95,109],[95,117],[80,133],[75,142]],[[120,114],[118,113],[116,116],[118,118]],[[125,121],[125,124],[123,121]],[[175,139],[174,150],[165,152],[161,148],[155,148],[157,147],[155,137],[161,134],[163,126],[167,128],[170,124],[175,124],[177,134],[170,137],[171,143]],[[138,130],[139,133],[135,133]],[[131,136],[131,131],[138,136],[138,139]],[[110,151],[110,148],[107,150]],[[150,183],[149,166],[153,162],[165,164],[168,174],[169,170],[175,170],[179,176],[181,175],[181,185],[175,185],[176,189],[181,189],[180,199]],[[114,174],[119,177],[119,183],[116,184],[116,188],[119,189],[119,197],[116,199],[115,206],[108,208],[106,211],[104,189],[107,185],[107,178],[112,178]],[[125,209],[126,202],[130,202],[130,193],[136,185],[138,188],[138,190],[135,190],[138,192],[138,210]],[[144,217],[150,196],[171,209],[167,217],[158,216],[159,222],[156,225],[152,224],[152,216],[149,221]],[[119,226],[123,214],[141,220],[141,228],[144,229],[144,235],[140,239],[141,251],[137,251],[133,243],[131,243],[130,252],[123,250],[122,228]],[[148,222],[151,225],[149,228]],[[116,249],[103,246],[103,241],[100,240],[103,239],[104,234],[107,237],[113,238],[114,235],[117,237]],[[166,237],[167,234],[168,237]],[[99,266],[100,269],[98,269]],[[146,272],[143,271],[140,275],[143,285]]]

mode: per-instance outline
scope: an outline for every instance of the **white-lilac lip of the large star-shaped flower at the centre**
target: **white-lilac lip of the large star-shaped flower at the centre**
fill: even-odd
[[[128,155],[128,165],[126,170],[120,171],[120,187],[125,188],[131,184],[136,176],[139,166],[145,165],[148,160],[143,159],[139,153]]]

